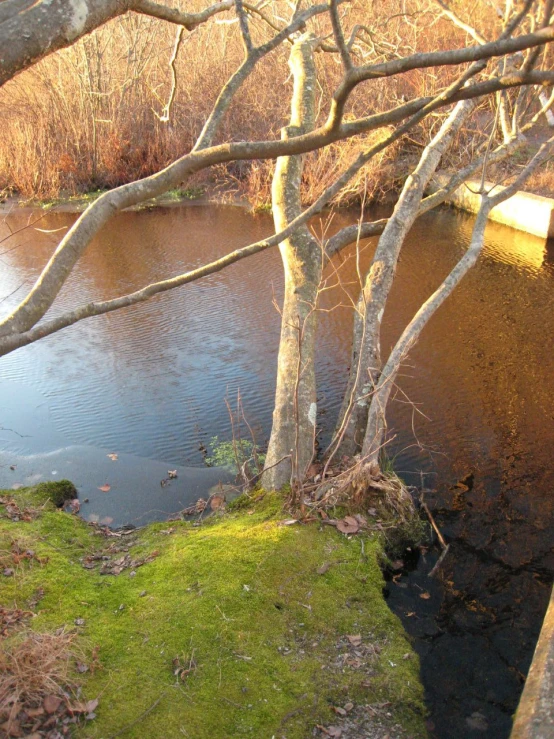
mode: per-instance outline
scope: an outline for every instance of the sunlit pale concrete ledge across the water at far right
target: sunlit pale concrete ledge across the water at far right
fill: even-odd
[[[447,181],[448,177],[446,175],[437,175],[433,183],[434,188],[438,189]],[[487,182],[485,186],[489,189],[493,187],[493,183]],[[470,213],[477,213],[480,196],[472,190],[476,191],[479,187],[480,182],[477,180],[468,180],[465,185],[462,185],[450,195],[447,202]],[[504,190],[504,188],[498,186],[495,190]],[[551,198],[520,191],[494,208],[489,217],[491,221],[503,223],[506,226],[526,231],[535,236],[541,236],[545,239],[554,237],[554,200]]]

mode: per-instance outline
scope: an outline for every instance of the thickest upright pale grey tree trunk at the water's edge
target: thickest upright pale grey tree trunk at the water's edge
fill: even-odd
[[[290,125],[283,138],[314,127],[316,70],[314,39],[304,35],[292,47],[294,78]],[[301,213],[300,181],[303,157],[279,157],[272,186],[273,218],[277,231]],[[262,482],[268,489],[301,481],[312,460],[316,424],[314,371],[316,301],[322,253],[307,226],[302,226],[279,249],[285,273],[281,340],[273,426]]]

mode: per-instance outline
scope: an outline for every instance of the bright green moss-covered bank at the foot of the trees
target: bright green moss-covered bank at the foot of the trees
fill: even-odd
[[[1,603],[31,604],[34,631],[65,626],[99,647],[101,669],[77,676],[99,699],[77,736],[293,739],[319,724],[346,737],[368,716],[424,735],[419,665],[383,599],[377,539],[283,525],[276,496],[106,537],[44,490],[0,495]],[[14,515],[8,498],[40,512]]]

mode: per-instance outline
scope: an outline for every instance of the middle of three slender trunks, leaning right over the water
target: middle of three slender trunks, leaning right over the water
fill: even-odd
[[[458,103],[425,148],[379,239],[354,318],[350,374],[335,433],[335,448],[339,454],[352,456],[362,447],[369,406],[381,371],[381,320],[400,250],[418,215],[429,180],[472,109],[471,101]]]

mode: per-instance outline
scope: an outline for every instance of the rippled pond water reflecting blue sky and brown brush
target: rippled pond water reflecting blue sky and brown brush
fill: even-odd
[[[0,238],[37,215],[9,214]],[[314,228],[331,233],[354,217]],[[0,311],[16,304],[74,218],[51,212],[0,243]],[[444,210],[412,229],[384,349],[462,254],[471,225]],[[91,245],[53,314],[181,273],[270,232],[268,216],[230,206],[121,214]],[[363,245],[362,268],[373,249],[374,241]],[[323,443],[346,380],[354,248],[325,276],[317,363]],[[162,518],[225,481],[223,471],[201,468],[199,446],[230,438],[225,399],[234,402],[238,391],[258,440],[267,439],[281,294],[273,250],[0,359],[0,487],[70,476],[90,501],[84,515],[116,525]],[[509,735],[546,609],[554,571],[553,308],[548,246],[490,224],[483,257],[425,329],[390,407],[395,467],[410,483],[423,480],[451,543],[439,578],[427,576],[431,551],[387,586],[421,656],[430,731],[444,739]],[[178,480],[161,488],[169,468]],[[104,484],[107,494],[98,491]]]

